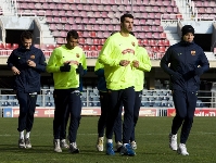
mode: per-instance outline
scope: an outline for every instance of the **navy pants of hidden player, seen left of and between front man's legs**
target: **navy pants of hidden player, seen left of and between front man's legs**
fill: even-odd
[[[101,115],[98,121],[98,135],[99,137],[104,136],[104,129],[106,125],[107,112],[109,112],[109,95],[107,92],[100,91],[100,102],[101,102]],[[120,105],[118,115],[114,123],[114,135],[115,135],[115,142],[122,142],[122,112],[123,105]]]

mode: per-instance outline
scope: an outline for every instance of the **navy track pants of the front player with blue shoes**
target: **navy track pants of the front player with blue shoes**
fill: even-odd
[[[118,116],[120,104],[124,105],[123,143],[129,143],[134,128],[135,89],[129,87],[122,90],[109,90],[109,111],[106,120],[107,139],[112,139],[115,120]]]

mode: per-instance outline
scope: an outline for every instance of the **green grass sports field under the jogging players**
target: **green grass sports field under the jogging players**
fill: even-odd
[[[53,152],[53,118],[35,118],[33,149],[18,149],[17,118],[0,118],[0,162],[13,163],[216,163],[216,117],[195,117],[182,156],[168,148],[171,117],[140,117],[136,156],[114,156],[96,150],[97,116],[82,116],[77,136],[79,154]],[[179,137],[178,137],[179,139]]]

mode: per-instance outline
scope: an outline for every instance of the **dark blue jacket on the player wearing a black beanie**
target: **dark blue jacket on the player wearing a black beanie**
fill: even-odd
[[[170,65],[168,65],[170,63]],[[204,72],[208,71],[209,63],[203,49],[194,42],[180,41],[168,48],[161,60],[161,67],[168,74],[178,73],[182,76],[175,80],[170,77],[170,89],[182,91],[198,91],[200,89],[200,76],[195,70],[200,66]]]

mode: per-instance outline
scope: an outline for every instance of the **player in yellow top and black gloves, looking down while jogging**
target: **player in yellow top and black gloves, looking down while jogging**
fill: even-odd
[[[78,46],[78,33],[69,30],[66,36],[66,45],[53,50],[47,66],[47,72],[53,73],[54,79],[54,151],[62,152],[60,147],[61,127],[64,126],[64,117],[68,108],[71,123],[68,129],[69,151],[78,153],[76,136],[80,122],[81,101],[79,91],[79,76],[84,74],[81,65],[82,49]]]

